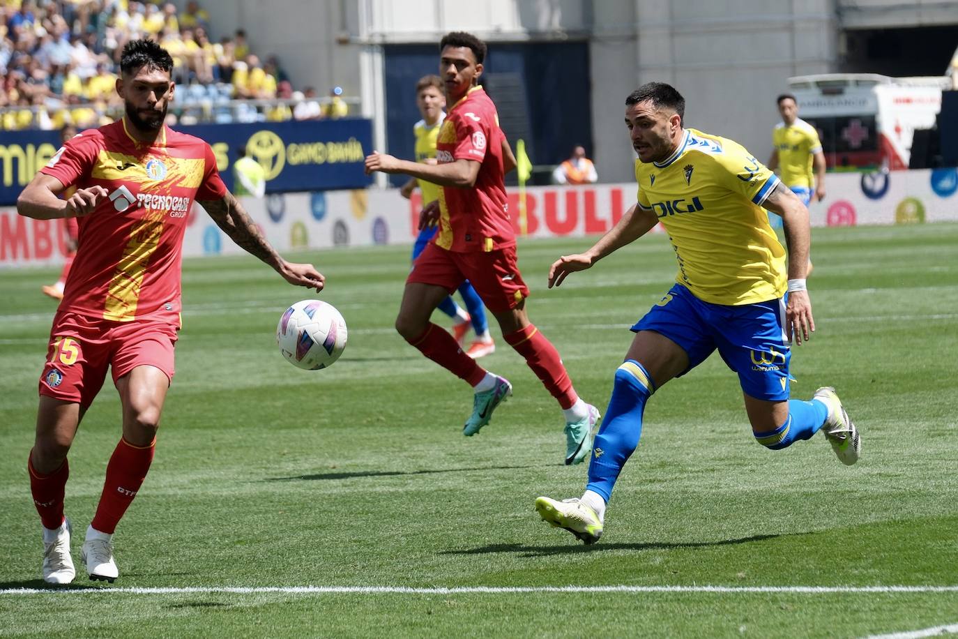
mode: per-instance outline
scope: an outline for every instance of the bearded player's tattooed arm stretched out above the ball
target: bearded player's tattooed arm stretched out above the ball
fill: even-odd
[[[227,192],[220,199],[198,201],[210,217],[213,217],[213,221],[223,230],[223,233],[235,241],[241,249],[275,268],[286,282],[291,285],[315,288],[317,291],[323,290],[326,284],[323,274],[312,264],[286,262],[266,241],[260,227],[243,210],[239,200],[233,194]]]

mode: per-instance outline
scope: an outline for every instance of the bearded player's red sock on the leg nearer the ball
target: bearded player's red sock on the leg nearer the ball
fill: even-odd
[[[143,480],[147,478],[155,446],[155,439],[149,445],[135,446],[120,438],[120,444],[106,465],[103,494],[100,495],[97,514],[90,523],[93,528],[101,533],[113,534],[123,513],[143,485]]]

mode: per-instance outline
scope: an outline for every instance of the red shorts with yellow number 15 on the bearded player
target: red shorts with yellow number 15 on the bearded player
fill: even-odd
[[[103,387],[137,366],[155,366],[173,378],[176,327],[166,322],[112,322],[64,311],[54,316],[40,395],[89,406]]]

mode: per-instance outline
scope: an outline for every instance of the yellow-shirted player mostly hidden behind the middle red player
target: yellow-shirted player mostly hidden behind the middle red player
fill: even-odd
[[[416,161],[425,164],[436,164],[436,139],[439,136],[439,129],[442,128],[445,121],[445,85],[443,79],[439,76],[424,76],[416,83],[416,105],[419,107],[422,120],[413,126],[413,134],[416,136]],[[409,198],[413,191],[419,187],[422,192],[422,206],[425,207],[429,202],[435,202],[439,199],[438,185],[425,180],[410,177],[402,185],[399,193],[403,197]],[[413,244],[413,262],[419,257],[425,245],[432,240],[439,230],[438,226],[425,226],[420,231],[416,243]],[[456,304],[452,296],[448,296],[439,305],[439,309],[452,318],[452,333],[459,346],[465,346],[466,334],[471,328],[475,332],[475,339],[466,350],[473,359],[491,354],[495,351],[495,343],[489,332],[489,322],[486,320],[486,308],[483,306],[482,299],[475,291],[468,280],[458,288],[466,303],[464,309]]]

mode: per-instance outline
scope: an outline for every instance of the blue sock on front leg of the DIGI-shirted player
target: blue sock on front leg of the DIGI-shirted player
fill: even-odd
[[[649,373],[634,359],[627,359],[616,369],[612,397],[592,444],[586,491],[598,492],[608,501],[619,472],[635,446],[639,445],[642,414],[646,410],[646,400],[654,391]]]

